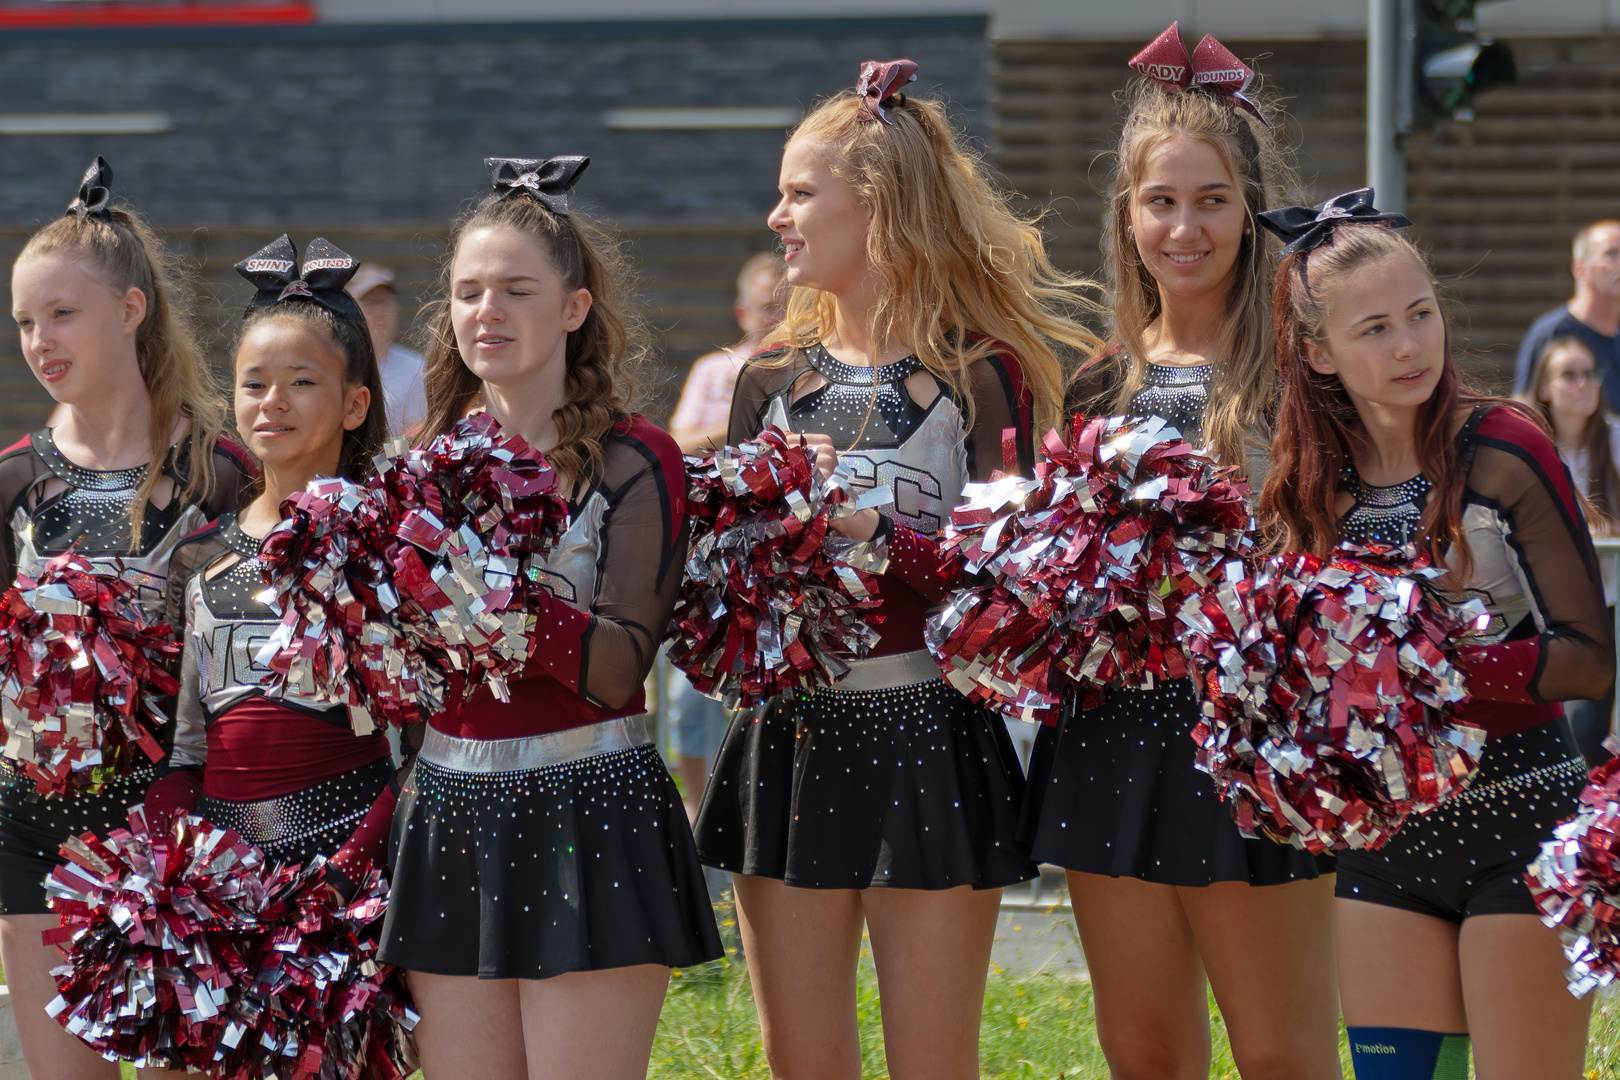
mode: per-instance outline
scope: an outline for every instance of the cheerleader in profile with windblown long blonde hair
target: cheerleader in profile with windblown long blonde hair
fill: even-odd
[[[805,432],[823,471],[842,458],[896,497],[836,526],[888,549],[873,654],[831,690],[735,716],[698,810],[776,1077],[860,1075],[862,923],[889,1074],[977,1077],[1001,887],[1035,874],[1006,727],[941,678],[923,619],[949,591],[935,534],[964,483],[1004,461],[1029,474],[1056,418],[1053,345],[1097,342],[944,107],[899,92],[915,71],[867,63],[789,138],[768,223],[792,296],[737,379],[727,436]]]

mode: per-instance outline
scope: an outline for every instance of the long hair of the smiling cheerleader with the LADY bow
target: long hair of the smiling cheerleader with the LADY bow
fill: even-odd
[[[1264,437],[1265,413],[1277,393],[1272,282],[1277,277],[1278,244],[1260,228],[1256,215],[1283,206],[1285,196],[1296,186],[1275,134],[1281,117],[1264,97],[1249,97],[1267,115],[1270,128],[1215,94],[1166,91],[1140,76],[1132,81],[1126,91],[1124,128],[1113,154],[1102,241],[1113,288],[1113,334],[1123,347],[1100,361],[1118,368],[1111,381],[1118,390],[1103,408],[1124,411],[1142,389],[1147,327],[1163,313],[1158,282],[1142,264],[1129,228],[1131,202],[1147,155],[1170,139],[1194,139],[1213,147],[1238,181],[1249,227],[1233,267],[1226,317],[1220,327],[1223,363],[1217,366],[1204,413],[1205,442],[1215,457],[1233,465],[1244,463],[1246,449],[1257,436]]]

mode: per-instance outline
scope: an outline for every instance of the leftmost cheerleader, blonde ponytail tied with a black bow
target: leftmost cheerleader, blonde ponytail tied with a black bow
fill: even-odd
[[[220,437],[225,410],[181,306],[178,267],[144,220],[112,206],[110,185],[97,157],[68,212],[11,267],[23,356],[65,413],[0,455],[0,578],[36,576],[75,547],[100,572],[122,565],[160,620],[170,554],[237,508],[251,465]],[[70,836],[123,826],[154,774],[143,767],[96,795],[44,798],[18,764],[0,761],[0,962],[36,1077],[118,1077],[45,1015],[60,963],[40,944],[57,925],[45,876]]]

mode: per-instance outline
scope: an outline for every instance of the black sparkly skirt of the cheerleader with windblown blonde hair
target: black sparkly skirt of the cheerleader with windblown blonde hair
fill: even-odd
[[[943,678],[821,690],[732,717],[700,858],[805,889],[998,889],[1035,876],[1006,725]]]

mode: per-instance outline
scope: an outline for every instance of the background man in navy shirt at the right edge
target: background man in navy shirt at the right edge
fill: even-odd
[[[1620,222],[1602,220],[1575,235],[1570,261],[1575,296],[1565,306],[1536,319],[1520,343],[1513,368],[1513,392],[1523,400],[1534,397],[1531,368],[1555,337],[1576,337],[1586,343],[1602,381],[1602,397],[1609,411],[1620,413]]]

